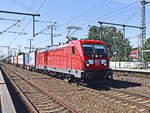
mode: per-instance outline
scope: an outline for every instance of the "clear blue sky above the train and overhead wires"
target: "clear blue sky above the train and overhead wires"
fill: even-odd
[[[36,20],[56,22],[54,33],[54,44],[65,42],[69,26],[81,27],[72,36],[86,38],[89,25],[99,25],[98,21],[113,22],[140,26],[140,0],[2,0],[0,10],[36,13],[40,17]],[[0,34],[0,46],[20,48],[22,51],[29,51],[29,39],[33,39],[32,47],[44,48],[51,44],[49,34],[32,36],[32,17],[23,15],[12,15],[0,13],[0,32],[4,31],[16,21],[2,20],[1,18],[20,20],[17,26],[11,27],[8,31],[23,32],[24,34],[7,33]],[[147,37],[150,37],[150,4],[146,6]],[[45,29],[52,23],[35,23],[36,33]],[[121,27],[117,27],[122,29]],[[50,33],[50,30],[45,31]],[[129,38],[133,47],[138,46],[137,35],[140,30],[126,28],[126,38]],[[17,49],[18,51],[19,49]],[[0,47],[0,55],[7,54],[7,49]]]

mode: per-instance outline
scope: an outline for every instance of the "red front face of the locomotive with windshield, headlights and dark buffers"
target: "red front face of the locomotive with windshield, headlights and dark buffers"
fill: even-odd
[[[109,68],[109,56],[103,41],[86,41],[81,44],[84,56],[84,72],[82,78],[86,80],[112,79]]]

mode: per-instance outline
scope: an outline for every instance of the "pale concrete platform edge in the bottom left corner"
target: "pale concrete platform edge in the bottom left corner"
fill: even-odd
[[[0,70],[0,113],[16,113],[11,96]]]

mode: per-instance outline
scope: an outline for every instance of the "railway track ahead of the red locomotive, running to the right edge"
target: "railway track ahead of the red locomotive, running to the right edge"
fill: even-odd
[[[110,88],[110,86],[107,85],[93,84],[92,87],[95,87],[97,93],[107,96],[108,99],[111,98],[116,99],[118,101],[117,103],[121,103],[122,101],[125,102],[124,105],[129,105],[129,104],[132,105],[131,108],[138,107],[140,108],[140,111],[147,109],[147,111],[150,112],[150,96],[144,96],[138,93]],[[108,91],[104,90],[103,92],[99,92],[99,89],[109,89],[109,90]],[[88,90],[90,90],[91,93],[93,92],[93,90],[91,89]]]

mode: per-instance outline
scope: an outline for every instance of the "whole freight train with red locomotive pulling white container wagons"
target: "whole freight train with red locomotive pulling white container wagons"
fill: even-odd
[[[103,41],[76,40],[68,44],[13,56],[18,67],[68,80],[112,79],[109,56]]]

